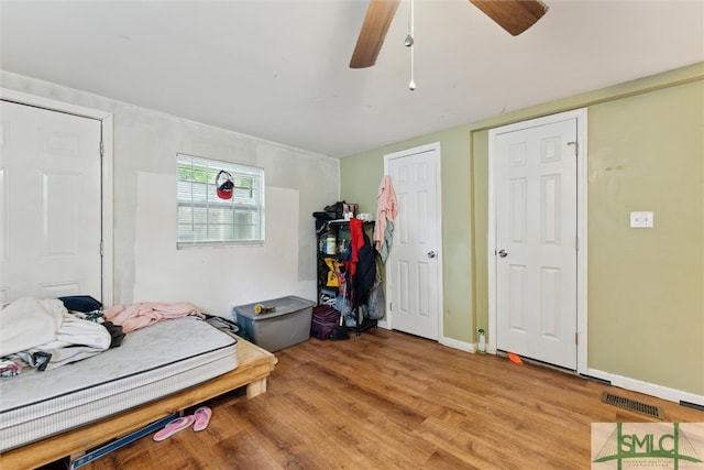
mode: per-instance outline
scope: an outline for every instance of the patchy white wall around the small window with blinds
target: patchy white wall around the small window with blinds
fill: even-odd
[[[2,70],[0,86],[113,113],[113,304],[187,300],[229,316],[316,298],[311,215],[338,200],[338,160]],[[176,250],[177,153],[264,168],[263,247]]]

